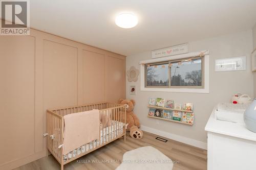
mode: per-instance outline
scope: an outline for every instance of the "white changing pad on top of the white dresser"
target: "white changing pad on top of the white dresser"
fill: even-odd
[[[215,110],[215,116],[219,120],[233,123],[244,123],[243,116],[249,104],[219,103]]]

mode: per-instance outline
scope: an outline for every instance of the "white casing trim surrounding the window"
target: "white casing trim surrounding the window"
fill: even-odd
[[[162,92],[188,92],[188,93],[209,93],[209,51],[204,52],[204,88],[157,88],[157,87],[145,87],[145,66],[143,64],[164,62],[169,60],[178,60],[183,58],[189,58],[199,56],[201,52],[186,53],[169,57],[156,58],[151,60],[140,61],[140,91],[162,91]]]

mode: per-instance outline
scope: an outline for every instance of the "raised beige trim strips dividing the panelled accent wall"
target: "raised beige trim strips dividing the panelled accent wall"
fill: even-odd
[[[34,29],[30,29],[30,37],[35,38],[34,42],[34,56],[35,56],[35,61],[34,61],[34,67],[35,67],[35,82],[34,82],[34,129],[33,129],[33,151],[34,153],[32,155],[27,154],[28,156],[24,158],[18,158],[15,160],[6,161],[3,162],[3,164],[0,165],[0,169],[13,169],[18,166],[27,164],[31,161],[34,161],[36,159],[39,159],[41,157],[44,157],[48,154],[48,151],[46,149],[46,139],[42,137],[42,134],[46,132],[46,112],[45,109],[47,105],[45,101],[45,94],[46,94],[46,89],[45,89],[45,78],[44,78],[44,72],[45,72],[45,54],[44,54],[44,42],[49,41],[53,43],[58,43],[61,45],[66,45],[72,48],[76,48],[76,56],[75,56],[75,105],[80,105],[82,104],[83,101],[83,96],[82,96],[82,81],[83,81],[83,76],[82,76],[82,53],[84,51],[89,51],[92,53],[100,54],[103,57],[104,60],[104,96],[103,99],[106,101],[106,92],[105,86],[106,86],[106,78],[105,78],[105,71],[106,71],[106,62],[108,58],[106,57],[113,57],[115,59],[120,59],[123,61],[123,69],[124,69],[124,85],[125,85],[125,56],[112,53],[109,51],[102,50],[97,47],[93,47],[90,45],[82,44],[79,42],[75,42],[66,38],[62,38],[56,35],[48,34],[45,32],[37,31]],[[19,37],[19,36],[17,36]],[[15,38],[15,36],[7,36],[7,38]],[[31,65],[30,65],[31,66]],[[124,88],[124,97],[125,97],[125,88]],[[47,99],[48,100],[48,99]],[[15,106],[14,106],[15,107]],[[17,132],[18,129],[17,129]],[[11,132],[8,132],[11,133]],[[26,133],[26,132],[19,132],[19,133]],[[31,148],[30,148],[31,149]],[[3,154],[4,156],[5,154]]]

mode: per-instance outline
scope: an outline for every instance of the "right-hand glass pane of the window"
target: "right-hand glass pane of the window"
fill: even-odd
[[[172,63],[171,86],[202,86],[202,60]]]

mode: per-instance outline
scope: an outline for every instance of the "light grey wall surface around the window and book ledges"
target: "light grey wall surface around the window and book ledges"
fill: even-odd
[[[230,96],[240,92],[253,95],[253,75],[250,66],[250,53],[252,51],[252,31],[246,31],[221,37],[189,42],[189,52],[209,50],[210,78],[209,93],[178,93],[178,92],[149,92],[139,91],[140,79],[137,82],[128,82],[126,79],[126,97],[134,99],[136,106],[134,112],[138,115],[142,125],[160,131],[165,131],[187,138],[206,142],[204,127],[213,107],[218,102],[229,102]],[[171,40],[170,40],[171,41]],[[215,72],[215,59],[246,56],[245,71]],[[131,66],[139,68],[139,61],[151,59],[151,52],[145,52],[126,57],[126,70]],[[137,94],[130,95],[130,85],[136,85]],[[193,126],[167,122],[147,117],[148,98],[174,99],[176,103],[194,103],[195,124]]]

